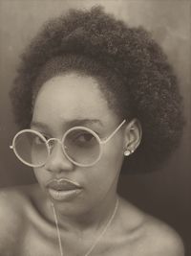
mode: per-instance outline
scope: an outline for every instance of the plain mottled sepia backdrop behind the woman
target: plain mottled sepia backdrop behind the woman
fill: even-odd
[[[191,255],[191,2],[186,0],[0,0],[0,187],[35,182],[32,170],[9,149],[17,131],[9,91],[19,56],[47,19],[69,8],[101,4],[131,26],[143,26],[166,52],[180,80],[186,127],[182,143],[158,173],[123,175],[119,193],[142,210],[166,221]]]

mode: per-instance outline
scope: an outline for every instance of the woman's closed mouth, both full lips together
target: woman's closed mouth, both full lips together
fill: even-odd
[[[47,184],[48,193],[53,200],[72,200],[77,197],[82,187],[77,182],[67,179],[53,179]]]

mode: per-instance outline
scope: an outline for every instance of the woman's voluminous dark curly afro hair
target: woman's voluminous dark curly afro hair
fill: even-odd
[[[59,57],[65,62],[75,57],[68,70],[101,78],[113,95],[108,102],[121,117],[138,118],[142,140],[124,160],[122,172],[159,169],[179,145],[184,121],[177,78],[152,36],[141,27],[130,28],[101,7],[71,10],[47,22],[22,55],[11,89],[20,128],[31,124],[34,84],[47,63]],[[74,64],[79,58],[80,64]]]

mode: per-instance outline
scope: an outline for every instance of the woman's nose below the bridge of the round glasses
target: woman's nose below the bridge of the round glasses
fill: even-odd
[[[49,172],[62,173],[74,170],[74,164],[66,157],[62,151],[59,141],[55,141],[51,148],[51,153],[47,159],[45,168]]]

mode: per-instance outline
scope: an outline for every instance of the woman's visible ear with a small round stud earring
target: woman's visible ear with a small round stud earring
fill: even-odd
[[[124,138],[124,154],[129,155],[130,153],[137,150],[142,137],[142,128],[138,119],[130,121],[125,128]]]

